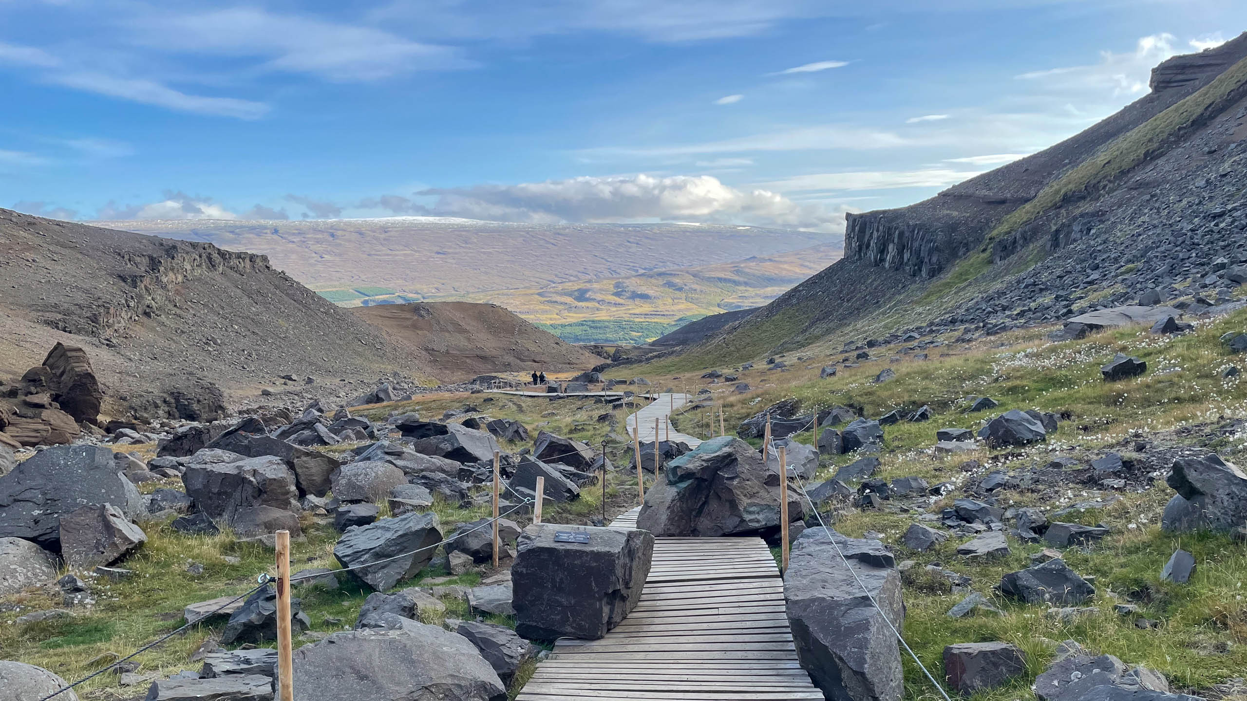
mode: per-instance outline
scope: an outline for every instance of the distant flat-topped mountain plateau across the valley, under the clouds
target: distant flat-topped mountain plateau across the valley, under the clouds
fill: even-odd
[[[490,302],[580,342],[643,342],[678,323],[766,304],[840,254],[838,234],[736,225],[449,217],[97,223],[263,253],[343,307]]]

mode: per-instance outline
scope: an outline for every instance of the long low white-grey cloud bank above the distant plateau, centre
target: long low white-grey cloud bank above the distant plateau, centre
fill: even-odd
[[[425,213],[518,222],[701,221],[839,231],[843,215],[712,176],[577,177],[520,185],[430,188]]]

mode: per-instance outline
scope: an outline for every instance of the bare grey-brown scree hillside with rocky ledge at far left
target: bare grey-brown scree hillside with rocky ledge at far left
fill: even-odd
[[[423,368],[268,258],[0,210],[0,378],[81,347],[101,418],[176,417],[172,392],[228,398]],[[311,378],[311,379],[308,379]]]

